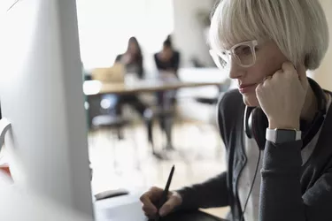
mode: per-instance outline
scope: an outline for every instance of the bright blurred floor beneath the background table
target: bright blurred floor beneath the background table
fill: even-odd
[[[163,136],[158,126],[155,139],[162,149]],[[172,165],[175,165],[171,189],[195,184],[225,171],[225,155],[220,136],[214,126],[192,122],[174,126],[175,151],[168,160],[151,155],[146,132],[141,124],[127,128],[124,139],[112,138],[110,131],[89,134],[89,156],[93,168],[92,189],[98,193],[108,189],[147,190],[165,187]],[[207,210],[225,217],[228,209]]]

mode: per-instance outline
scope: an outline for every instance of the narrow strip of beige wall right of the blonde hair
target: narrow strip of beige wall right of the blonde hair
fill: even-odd
[[[320,0],[328,19],[329,47],[320,68],[314,72],[314,79],[322,88],[332,90],[332,1]]]

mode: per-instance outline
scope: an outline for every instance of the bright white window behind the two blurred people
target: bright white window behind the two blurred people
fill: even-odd
[[[135,36],[141,44],[145,66],[173,32],[172,0],[76,0],[81,59],[86,69],[111,66]]]

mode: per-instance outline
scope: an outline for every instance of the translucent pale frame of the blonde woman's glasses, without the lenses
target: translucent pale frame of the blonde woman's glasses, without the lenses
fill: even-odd
[[[252,59],[252,64],[251,65],[243,65],[241,64],[241,59],[235,54],[235,49],[239,46],[242,45],[246,45],[249,46],[251,48],[251,53],[253,56]],[[235,57],[235,59],[237,60],[236,64],[239,66],[242,66],[244,68],[248,68],[251,67],[253,65],[255,65],[256,63],[256,50],[255,47],[259,45],[259,42],[257,40],[251,40],[251,41],[247,41],[247,42],[240,42],[235,44],[234,46],[232,46],[232,48],[230,48],[229,50],[223,50],[223,52],[226,52],[225,55],[221,55],[217,50],[209,50],[210,56],[212,57],[215,65],[217,65],[218,68],[220,68],[221,70],[225,69],[228,66],[228,63],[230,62],[230,57]],[[217,57],[216,57],[217,56]],[[220,58],[225,60],[223,57],[228,57],[228,61],[225,61],[226,65],[222,66],[221,64],[217,64],[216,61],[219,62]]]

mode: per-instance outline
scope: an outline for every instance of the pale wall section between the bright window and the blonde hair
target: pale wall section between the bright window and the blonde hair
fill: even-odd
[[[211,0],[173,0],[174,45],[181,51],[181,66],[190,66],[192,56],[212,65],[204,33],[197,20],[197,10],[211,10]]]

